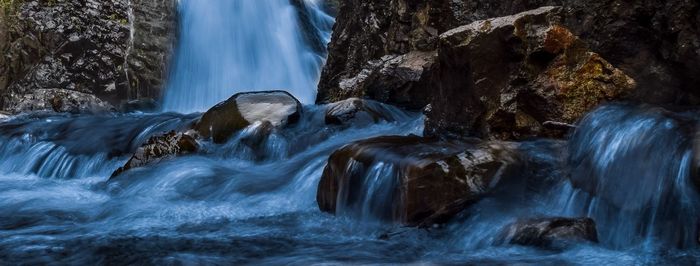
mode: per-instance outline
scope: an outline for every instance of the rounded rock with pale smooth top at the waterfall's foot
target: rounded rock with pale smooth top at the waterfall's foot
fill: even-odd
[[[224,143],[255,122],[269,121],[274,127],[296,123],[301,111],[299,100],[286,91],[239,93],[209,109],[194,129],[204,138]]]

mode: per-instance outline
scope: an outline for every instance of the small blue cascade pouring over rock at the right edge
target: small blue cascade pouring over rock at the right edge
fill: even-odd
[[[615,248],[697,246],[696,118],[626,105],[588,115],[569,142],[564,212],[593,218],[601,242]]]

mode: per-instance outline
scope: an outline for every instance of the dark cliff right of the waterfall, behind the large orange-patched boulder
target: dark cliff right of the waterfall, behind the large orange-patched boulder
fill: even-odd
[[[545,5],[561,6],[558,23],[586,43],[592,52],[636,81],[636,90],[625,99],[654,104],[700,103],[700,2],[685,0],[344,1],[340,4],[317,101],[366,97],[409,108],[431,102],[434,103],[431,105],[433,110],[445,108],[444,105],[469,108],[457,106],[462,92],[454,94],[440,90],[440,80],[435,80],[450,78],[440,72],[438,36],[477,20],[512,15]],[[436,54],[432,59],[434,64],[422,69],[424,77],[392,78],[401,82],[365,78],[410,71],[402,67],[385,71],[385,67],[377,68],[376,65],[383,58],[414,52]],[[500,52],[503,51],[492,51]],[[355,85],[358,79],[363,82]],[[469,90],[468,87],[454,89],[449,91]],[[406,90],[411,93],[405,93]],[[441,119],[449,122],[452,118]],[[460,130],[431,130],[430,125],[427,130],[436,134],[470,135]]]

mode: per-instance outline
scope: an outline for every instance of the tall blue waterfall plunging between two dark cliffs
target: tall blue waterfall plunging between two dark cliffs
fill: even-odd
[[[318,1],[181,0],[180,37],[164,95],[165,111],[206,111],[237,92],[283,89],[313,103],[333,18]],[[301,10],[300,10],[301,9]],[[302,28],[300,14],[309,17]]]

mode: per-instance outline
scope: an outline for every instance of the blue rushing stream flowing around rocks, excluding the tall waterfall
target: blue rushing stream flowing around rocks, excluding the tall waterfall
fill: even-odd
[[[158,132],[184,128],[197,115],[14,117],[0,124],[0,258],[8,264],[632,265],[693,264],[700,256],[694,241],[674,237],[697,233],[697,195],[687,184],[690,162],[682,159],[692,147],[682,125],[694,123],[692,116],[675,119],[658,109],[603,107],[582,121],[568,144],[533,140],[522,145],[533,162],[523,178],[535,180],[522,186],[526,189],[495,193],[453,222],[425,230],[372,218],[372,208],[385,197],[382,189],[371,190],[357,214],[335,217],[318,211],[316,187],[331,152],[373,136],[420,135],[423,123],[418,114],[388,107],[398,121],[327,126],[325,108],[305,107],[299,124],[275,131],[255,150],[239,142],[254,131],[252,125],[226,144],[208,143],[198,154],[113,180],[111,172],[139,143]],[[615,119],[617,123],[601,122]],[[642,121],[646,126],[639,126]],[[658,157],[645,161],[646,168],[632,160],[648,149]],[[566,153],[568,159],[562,156]],[[628,171],[620,175],[620,168]],[[376,182],[390,169],[376,167],[369,180]],[[601,197],[574,188],[569,169],[601,180],[592,190]],[[663,172],[650,173],[656,179],[634,178],[648,169]],[[604,199],[608,186],[656,189]],[[668,192],[655,194],[661,190]],[[640,198],[648,208],[636,208]],[[631,211],[642,211],[603,211],[618,200]],[[660,208],[665,202],[676,205]],[[537,216],[590,216],[599,224],[601,243],[561,250],[499,243],[505,225]]]

